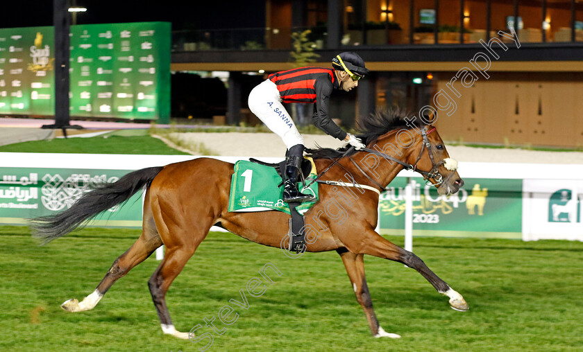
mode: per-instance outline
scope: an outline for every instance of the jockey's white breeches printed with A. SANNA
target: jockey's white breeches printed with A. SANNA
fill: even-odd
[[[277,134],[289,150],[303,144],[303,138],[285,107],[281,103],[278,87],[271,80],[264,80],[249,94],[248,105],[268,128]]]

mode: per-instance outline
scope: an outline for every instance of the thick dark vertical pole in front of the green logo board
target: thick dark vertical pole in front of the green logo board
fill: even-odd
[[[67,128],[83,127],[70,124],[69,116],[69,1],[53,0],[53,25],[55,26],[55,124],[42,125],[43,129],[60,128],[67,138]]]

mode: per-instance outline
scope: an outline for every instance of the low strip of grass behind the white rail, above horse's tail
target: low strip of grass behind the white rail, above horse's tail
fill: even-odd
[[[148,135],[124,136],[121,134],[14,143],[0,146],[0,152],[188,155]]]

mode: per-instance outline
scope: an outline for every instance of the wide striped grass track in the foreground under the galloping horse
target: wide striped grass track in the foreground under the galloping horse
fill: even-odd
[[[162,335],[147,280],[148,258],[120,279],[93,310],[67,313],[83,299],[139,231],[88,228],[38,247],[26,227],[0,227],[1,351],[198,351]],[[387,237],[402,245],[402,238]],[[380,324],[399,340],[375,339],[335,252],[287,258],[278,249],[211,233],[167,294],[176,328],[212,333],[203,318],[230,304],[239,314],[212,333],[208,351],[582,351],[583,243],[415,238],[414,252],[464,295],[465,313],[448,308],[413,270],[365,258]],[[239,290],[273,263],[282,276],[262,297]]]

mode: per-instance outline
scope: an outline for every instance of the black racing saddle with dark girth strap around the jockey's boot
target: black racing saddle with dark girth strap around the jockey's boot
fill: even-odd
[[[286,164],[285,160],[281,161],[280,163],[266,163],[266,162],[261,161],[261,160],[249,158],[249,161],[251,161],[255,164],[260,164],[263,166],[269,166],[269,167],[275,168],[278,175],[280,175],[280,177],[282,179],[281,183],[278,184],[278,187],[282,186],[282,184],[285,180],[285,164]],[[299,177],[302,180],[302,183],[304,186],[305,186],[305,179],[308,177],[308,175],[310,175],[311,171],[312,171],[312,162],[310,160],[303,159],[302,165],[301,165],[301,172],[300,172]],[[287,247],[287,250],[289,250],[289,252],[301,253],[301,252],[305,252],[305,249],[306,249],[303,215],[301,215],[301,213],[299,213],[296,210],[296,207],[299,206],[300,204],[301,203],[299,203],[299,202],[287,203],[287,205],[289,206],[289,212],[291,215],[291,218],[289,218],[289,220],[288,220],[289,231],[287,232],[287,236],[289,237],[289,245]]]

